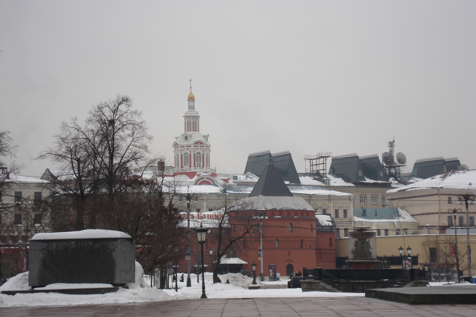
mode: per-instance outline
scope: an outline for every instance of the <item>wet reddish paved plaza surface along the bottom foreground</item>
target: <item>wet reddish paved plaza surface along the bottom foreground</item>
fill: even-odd
[[[0,316],[61,317],[438,317],[476,316],[476,305],[408,305],[367,297],[191,299],[88,306],[1,307]]]

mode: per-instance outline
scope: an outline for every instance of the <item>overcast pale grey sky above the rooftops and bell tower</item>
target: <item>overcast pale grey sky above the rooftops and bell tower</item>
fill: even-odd
[[[475,1],[0,1],[0,130],[25,175],[117,93],[173,157],[192,78],[213,167],[248,153],[458,156],[476,168]],[[330,162],[329,162],[330,163]]]

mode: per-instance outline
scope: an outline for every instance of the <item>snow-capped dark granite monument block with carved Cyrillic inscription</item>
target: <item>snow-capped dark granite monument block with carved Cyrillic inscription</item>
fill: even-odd
[[[82,230],[34,235],[29,246],[29,285],[135,282],[135,243],[119,231]]]

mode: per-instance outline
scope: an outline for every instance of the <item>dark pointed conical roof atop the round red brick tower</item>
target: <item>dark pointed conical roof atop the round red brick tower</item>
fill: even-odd
[[[255,187],[249,194],[253,196],[292,196],[288,186],[284,184],[283,179],[279,176],[278,171],[274,168],[273,161],[269,159],[268,165],[265,167],[263,174],[258,179]]]

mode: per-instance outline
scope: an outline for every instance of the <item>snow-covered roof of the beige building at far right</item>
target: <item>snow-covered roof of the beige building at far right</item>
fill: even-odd
[[[411,191],[423,188],[454,188],[476,190],[476,170],[451,170],[426,178],[414,184],[388,190],[387,193]]]

